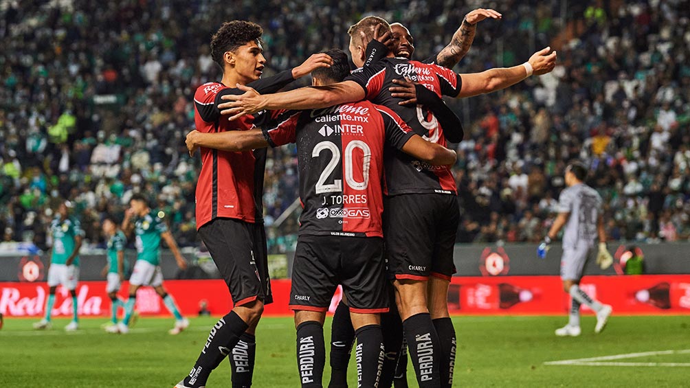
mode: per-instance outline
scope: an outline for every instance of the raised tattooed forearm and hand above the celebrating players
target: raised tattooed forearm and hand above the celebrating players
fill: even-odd
[[[469,52],[477,32],[477,23],[486,19],[501,19],[502,15],[495,10],[478,8],[465,15],[460,28],[453,34],[451,43],[436,56],[436,63],[444,68],[452,69],[467,52]]]

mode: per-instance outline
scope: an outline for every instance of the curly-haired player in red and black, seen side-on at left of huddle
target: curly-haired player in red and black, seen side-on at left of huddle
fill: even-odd
[[[245,116],[239,121],[228,121],[217,108],[220,96],[241,93],[235,86],[247,84],[264,92],[275,92],[311,70],[331,63],[325,54],[317,54],[296,68],[259,79],[266,63],[260,41],[262,33],[262,28],[255,23],[230,21],[213,35],[212,57],[223,69],[223,78],[197,89],[194,96],[197,130],[250,130],[263,117]],[[255,359],[256,325],[264,304],[273,301],[261,201],[266,154],[202,148],[201,161],[196,192],[197,227],[228,285],[235,307],[211,329],[189,376],[176,387],[203,387],[210,371],[235,350],[246,354],[246,359],[235,363],[235,358],[229,358],[233,367],[233,387],[249,387]]]

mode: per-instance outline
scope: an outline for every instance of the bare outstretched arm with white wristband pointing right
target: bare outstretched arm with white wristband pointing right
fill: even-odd
[[[532,74],[542,75],[551,72],[556,65],[556,52],[547,47],[535,52],[529,61],[512,68],[494,68],[480,73],[460,74],[462,88],[458,98],[491,93],[508,88]]]

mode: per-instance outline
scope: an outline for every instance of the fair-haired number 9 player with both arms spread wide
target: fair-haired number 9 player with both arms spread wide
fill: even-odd
[[[365,17],[348,31],[355,65],[365,61],[365,48],[359,32],[373,38],[373,30],[388,23],[379,17]],[[391,96],[393,79],[408,77],[438,95],[468,97],[507,88],[532,74],[545,74],[555,67],[555,52],[545,48],[529,61],[512,68],[495,68],[474,74],[455,74],[437,65],[424,64],[388,54],[384,60],[353,72],[342,83],[325,87],[301,88],[290,92],[260,95],[243,88],[241,96],[226,96],[219,104],[230,120],[264,109],[316,109],[330,105],[370,99],[399,114],[417,134],[429,141],[445,144],[444,131],[424,108],[400,105]],[[394,276],[398,308],[420,387],[449,386],[450,378],[440,377],[440,364],[451,364],[452,347],[443,347],[433,318],[449,316],[447,289],[453,274],[453,245],[459,219],[455,181],[448,167],[415,163],[400,152],[385,159],[386,220],[384,237],[389,269]],[[395,177],[395,178],[393,178]],[[410,227],[409,225],[415,225]],[[388,249],[390,248],[390,249]],[[430,312],[435,314],[430,315]],[[430,363],[424,360],[431,358]],[[450,371],[448,372],[450,373]]]

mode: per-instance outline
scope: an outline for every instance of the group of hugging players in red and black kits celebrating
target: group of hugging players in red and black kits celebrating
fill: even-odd
[[[420,387],[453,385],[455,329],[446,296],[460,210],[450,168],[456,154],[445,146],[463,132],[441,96],[507,88],[550,72],[556,59],[545,48],[513,68],[449,70],[469,49],[475,23],[500,17],[470,12],[453,42],[424,62],[411,60],[413,38],[403,25],[365,17],[348,30],[357,70],[344,52],[328,50],[267,79],[260,79],[262,28],[221,25],[210,47],[223,76],[197,89],[197,130],[186,141],[203,162],[199,235],[235,307],[210,330],[177,388],[205,387],[228,355],[233,387],[251,385],[255,329],[272,302],[262,220],[265,149],[287,143],[297,145],[304,207],[290,292],[302,387],[322,386],[323,324],[337,285],[345,297],[334,318],[330,387],[347,386],[355,338],[359,387],[391,387],[398,360],[406,359],[403,340]],[[311,87],[277,93],[310,73]]]

